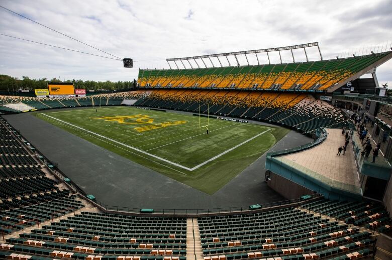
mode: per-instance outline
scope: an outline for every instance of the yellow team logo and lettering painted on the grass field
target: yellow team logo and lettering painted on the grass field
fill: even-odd
[[[153,118],[150,118],[148,115],[133,115],[133,116],[114,116],[114,117],[93,117],[93,119],[103,119],[109,122],[117,122],[119,124],[125,125],[135,125],[135,124],[149,124],[146,126],[135,127],[134,129],[138,132],[149,131],[153,129],[158,129],[162,127],[180,125],[186,123],[186,121],[174,121],[174,122],[163,122],[159,124],[152,125],[154,121]]]

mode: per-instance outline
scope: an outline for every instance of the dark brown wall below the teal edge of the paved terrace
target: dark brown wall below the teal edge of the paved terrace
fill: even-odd
[[[314,194],[314,192],[308,188],[274,174],[273,172],[270,174],[270,179],[271,180],[267,182],[268,186],[287,200],[298,199],[304,195]]]

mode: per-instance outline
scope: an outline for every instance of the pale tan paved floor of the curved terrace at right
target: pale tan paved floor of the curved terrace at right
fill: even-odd
[[[348,144],[345,154],[337,155],[345,136],[340,129],[326,130],[327,139],[316,147],[278,158],[329,186],[360,194],[352,144]]]

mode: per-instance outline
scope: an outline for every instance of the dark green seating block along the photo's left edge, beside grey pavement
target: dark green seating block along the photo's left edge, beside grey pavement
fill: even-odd
[[[0,231],[11,233],[80,208],[66,189],[48,178],[20,135],[0,120]],[[72,210],[70,210],[72,209]]]

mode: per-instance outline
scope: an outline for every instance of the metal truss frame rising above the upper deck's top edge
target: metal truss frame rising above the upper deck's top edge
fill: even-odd
[[[284,47],[275,47],[275,48],[268,48],[268,49],[249,50],[249,51],[236,51],[236,52],[227,52],[227,53],[201,55],[201,56],[193,56],[193,57],[183,57],[183,58],[168,58],[168,59],[166,59],[166,62],[167,62],[167,64],[169,64],[170,69],[172,69],[172,67],[171,67],[169,61],[174,62],[174,64],[177,67],[177,69],[180,69],[178,67],[178,64],[177,64],[177,62],[180,61],[182,63],[182,66],[186,69],[186,66],[185,66],[183,61],[185,61],[185,63],[187,62],[190,65],[190,68],[193,68],[192,64],[190,63],[190,60],[193,60],[194,63],[198,66],[198,68],[200,68],[200,64],[197,61],[197,59],[200,59],[200,60],[202,60],[204,67],[208,68],[209,66],[207,66],[207,64],[204,61],[204,59],[208,58],[210,60],[211,64],[212,64],[212,67],[215,67],[214,62],[212,61],[211,58],[216,58],[216,59],[218,59],[220,66],[223,67],[222,62],[219,59],[219,57],[226,58],[227,62],[229,63],[229,66],[232,66],[228,56],[234,56],[235,60],[236,60],[236,63],[237,63],[236,65],[240,66],[240,63],[239,63],[238,58],[237,58],[238,55],[245,55],[247,65],[250,65],[247,55],[254,54],[256,56],[257,64],[260,65],[257,53],[265,52],[267,54],[267,57],[268,57],[268,63],[271,64],[268,53],[277,51],[277,52],[279,52],[280,63],[282,63],[282,57],[280,55],[280,51],[290,50],[291,51],[291,56],[292,56],[292,61],[295,63],[296,60],[295,60],[295,57],[294,57],[294,54],[293,54],[292,50],[294,50],[294,49],[304,49],[306,61],[309,61],[308,53],[306,52],[306,49],[309,48],[309,47],[315,47],[315,46],[317,46],[317,48],[319,50],[320,59],[323,60],[323,55],[321,54],[319,43],[318,42],[311,42],[311,43],[305,43],[305,44],[298,44],[298,45],[291,45],[291,46],[284,46]]]

